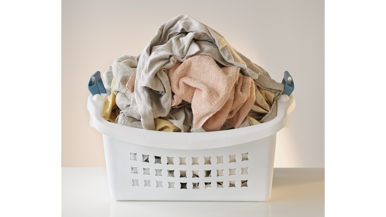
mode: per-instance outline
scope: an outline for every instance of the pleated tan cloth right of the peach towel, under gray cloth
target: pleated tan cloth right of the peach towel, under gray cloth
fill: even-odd
[[[272,108],[274,93],[255,87],[256,100],[248,115],[256,120],[261,120]]]

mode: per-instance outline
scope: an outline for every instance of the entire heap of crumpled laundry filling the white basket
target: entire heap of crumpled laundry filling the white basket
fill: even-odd
[[[215,30],[180,15],[138,56],[103,74],[102,116],[119,125],[168,132],[242,128],[275,118],[283,84]]]

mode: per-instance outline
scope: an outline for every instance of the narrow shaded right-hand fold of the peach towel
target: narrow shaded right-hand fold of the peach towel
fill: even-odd
[[[235,83],[235,96],[227,123],[238,128],[255,102],[255,84],[252,78],[239,73]]]

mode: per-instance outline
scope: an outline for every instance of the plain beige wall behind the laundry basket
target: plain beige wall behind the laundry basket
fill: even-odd
[[[324,1],[62,1],[62,167],[105,167],[89,126],[87,82],[117,57],[138,55],[158,27],[187,14],[222,34],[276,81],[294,77],[291,128],[274,167],[324,167]]]

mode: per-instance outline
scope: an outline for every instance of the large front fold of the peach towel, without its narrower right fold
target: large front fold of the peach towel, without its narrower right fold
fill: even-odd
[[[221,129],[232,107],[239,71],[236,66],[220,67],[206,55],[190,57],[169,69],[174,98],[191,103],[192,128],[203,127],[206,131]]]

